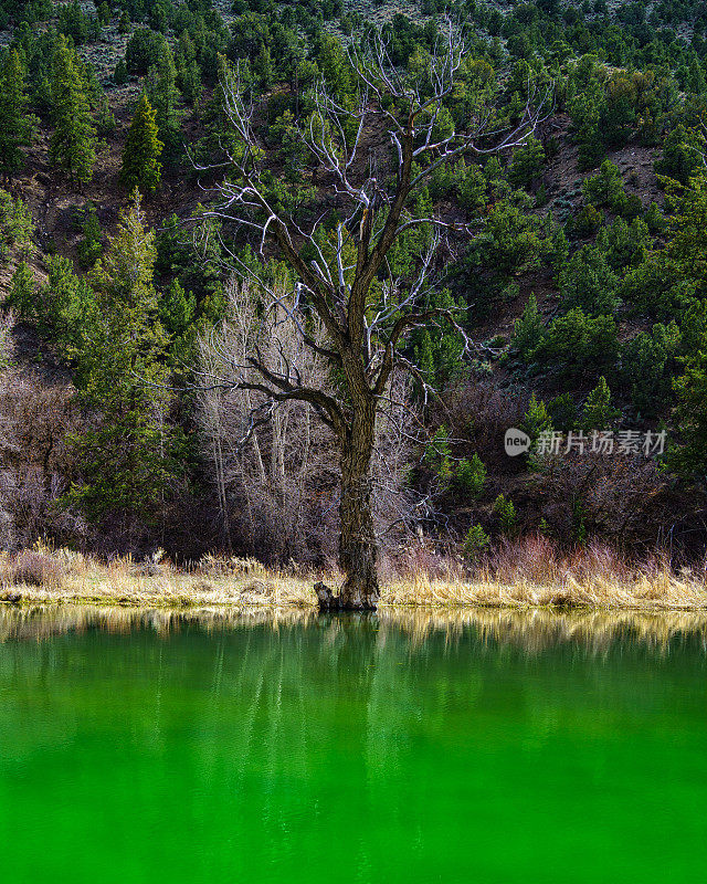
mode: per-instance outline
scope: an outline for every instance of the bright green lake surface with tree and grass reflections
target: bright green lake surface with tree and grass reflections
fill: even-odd
[[[689,615],[0,610],[3,882],[689,882]]]

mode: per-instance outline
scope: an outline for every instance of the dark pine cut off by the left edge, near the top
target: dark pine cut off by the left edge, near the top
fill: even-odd
[[[23,147],[30,144],[33,118],[27,114],[24,71],[15,50],[0,69],[0,172],[4,182],[24,166]]]

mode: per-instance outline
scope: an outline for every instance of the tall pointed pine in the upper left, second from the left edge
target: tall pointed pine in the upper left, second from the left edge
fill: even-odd
[[[96,161],[96,130],[82,65],[63,35],[52,59],[51,92],[55,129],[50,140],[50,159],[72,182],[85,183],[93,177]]]

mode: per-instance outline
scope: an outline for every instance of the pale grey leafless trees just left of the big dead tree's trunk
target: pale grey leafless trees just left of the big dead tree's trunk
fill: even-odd
[[[254,367],[232,370],[257,350],[278,372],[296,362],[303,383],[326,387],[327,366],[313,350],[299,352],[296,326],[288,322],[283,281],[274,283],[281,303],[258,316],[262,293],[252,284],[226,285],[223,320],[199,340],[198,421],[218,492],[225,546],[235,518],[251,549],[283,559],[302,558],[335,485],[333,440],[313,407],[291,399],[278,408],[261,390],[240,387],[261,380]],[[319,338],[319,332],[313,329]],[[316,543],[314,544],[316,546]]]

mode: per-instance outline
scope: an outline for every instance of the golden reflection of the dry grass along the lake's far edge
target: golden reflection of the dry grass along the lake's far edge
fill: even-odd
[[[337,632],[341,621],[328,615],[328,633]],[[373,615],[377,629],[397,630],[413,644],[422,644],[434,633],[450,639],[472,629],[484,643],[540,652],[559,644],[580,646],[590,653],[605,650],[613,641],[639,643],[646,648],[667,648],[671,640],[690,635],[707,642],[707,612],[694,611],[552,611],[490,610],[488,608],[399,608],[386,606]],[[367,618],[363,618],[367,620]],[[363,622],[363,621],[361,621]],[[235,627],[266,625],[273,630],[287,627],[320,629],[323,621],[314,608],[141,608],[116,606],[42,604],[0,606],[0,642],[41,641],[66,632],[98,630],[127,633],[149,629],[158,635],[179,633],[197,627],[211,632]],[[705,645],[707,646],[707,645]]]

